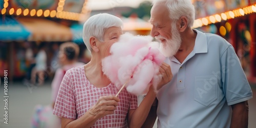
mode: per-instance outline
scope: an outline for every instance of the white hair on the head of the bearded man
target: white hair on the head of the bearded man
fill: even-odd
[[[170,19],[174,19],[177,22],[181,16],[185,16],[188,19],[188,27],[193,27],[195,7],[190,0],[154,0],[152,4],[159,2],[164,2],[167,6]]]

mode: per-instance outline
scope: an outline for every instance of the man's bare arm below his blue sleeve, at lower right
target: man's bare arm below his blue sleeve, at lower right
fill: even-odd
[[[232,117],[230,128],[233,127],[248,127],[248,101],[240,102],[231,105]]]

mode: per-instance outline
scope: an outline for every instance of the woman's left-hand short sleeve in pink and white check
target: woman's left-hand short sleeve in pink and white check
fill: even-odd
[[[58,117],[76,119],[76,100],[72,74],[67,71],[60,84],[53,114]]]

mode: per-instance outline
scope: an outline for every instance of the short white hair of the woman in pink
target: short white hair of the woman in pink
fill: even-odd
[[[82,39],[86,44],[87,49],[91,52],[90,37],[94,36],[99,41],[104,41],[104,31],[110,27],[123,26],[122,20],[114,15],[108,13],[100,13],[91,16],[83,25]]]

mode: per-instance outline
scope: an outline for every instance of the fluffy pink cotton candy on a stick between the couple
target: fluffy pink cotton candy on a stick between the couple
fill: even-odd
[[[157,75],[165,57],[158,50],[158,42],[151,36],[125,33],[112,45],[111,55],[102,60],[102,71],[118,89],[135,95],[147,93],[151,84],[156,89],[161,75]]]

